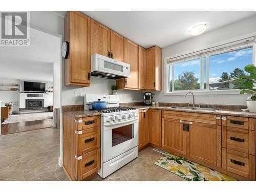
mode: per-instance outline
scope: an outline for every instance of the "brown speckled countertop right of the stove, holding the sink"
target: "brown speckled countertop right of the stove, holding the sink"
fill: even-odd
[[[217,111],[199,111],[199,110],[183,110],[183,109],[171,109],[170,106],[133,106],[138,110],[145,110],[145,109],[158,109],[158,110],[168,110],[168,111],[183,111],[183,112],[190,112],[190,113],[206,113],[206,114],[215,114],[215,115],[231,115],[237,117],[249,117],[249,118],[256,118],[256,113],[251,113],[248,111],[234,111],[234,110],[217,110]]]

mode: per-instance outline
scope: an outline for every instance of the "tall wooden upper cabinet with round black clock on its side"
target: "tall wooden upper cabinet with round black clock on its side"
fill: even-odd
[[[78,11],[68,11],[64,40],[70,44],[65,59],[65,86],[90,86],[91,18]]]

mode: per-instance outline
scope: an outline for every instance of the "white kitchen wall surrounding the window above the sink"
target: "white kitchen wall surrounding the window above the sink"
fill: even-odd
[[[240,20],[239,22],[227,25],[225,27],[210,31],[208,33],[190,38],[188,40],[179,42],[162,49],[162,58],[167,56],[179,55],[189,53],[191,51],[201,50],[203,48],[211,47],[220,44],[220,42],[231,41],[234,38],[244,36],[247,34],[256,33],[256,15]],[[163,67],[163,69],[165,69]],[[162,82],[164,82],[164,73],[162,75]],[[162,84],[164,87],[164,84]],[[156,93],[156,101],[159,102],[176,102],[188,103],[192,102],[192,97],[185,98],[184,95],[165,96],[164,90]],[[196,103],[207,104],[237,104],[246,105],[246,98],[248,95],[196,95]]]

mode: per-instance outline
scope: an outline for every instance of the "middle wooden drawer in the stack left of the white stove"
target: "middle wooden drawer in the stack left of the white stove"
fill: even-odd
[[[78,134],[77,146],[78,155],[100,148],[100,127],[82,130],[82,134]]]

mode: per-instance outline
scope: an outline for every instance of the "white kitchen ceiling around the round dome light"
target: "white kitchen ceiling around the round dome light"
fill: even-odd
[[[55,11],[65,16],[66,11]],[[164,48],[194,37],[188,30],[206,22],[206,32],[237,22],[256,11],[81,11],[144,48]]]

